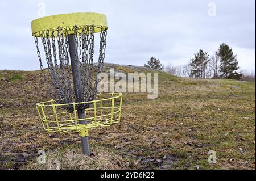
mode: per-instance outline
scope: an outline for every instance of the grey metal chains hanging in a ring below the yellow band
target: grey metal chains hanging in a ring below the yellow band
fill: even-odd
[[[94,31],[95,28],[100,28],[100,50],[98,57],[98,68],[96,75],[93,74],[93,58],[94,58]],[[75,66],[77,71],[73,72],[76,79],[73,84],[81,84],[82,94],[78,94],[78,90],[74,91],[71,81],[71,64],[69,62],[69,46],[68,46],[68,30],[63,27],[57,27],[56,30],[43,31],[40,38],[42,39],[43,49],[45,52],[46,62],[50,79],[47,79],[45,70],[42,64],[42,58],[38,45],[38,37],[35,37],[36,50],[40,63],[40,69],[43,74],[44,82],[46,82],[49,95],[56,100],[57,103],[73,103],[73,102],[88,102],[96,98],[97,75],[102,72],[106,49],[107,31],[104,27],[74,26],[75,33]],[[57,44],[56,44],[57,41]],[[57,49],[56,49],[57,47]],[[57,56],[57,53],[59,56]],[[77,76],[80,75],[80,76]],[[49,86],[49,81],[52,82],[53,90]],[[94,81],[94,85],[93,85]],[[82,104],[79,108],[88,108],[90,103]],[[68,112],[73,112],[73,106],[65,107]]]

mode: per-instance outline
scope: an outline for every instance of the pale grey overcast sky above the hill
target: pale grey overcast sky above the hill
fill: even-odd
[[[255,0],[2,0],[0,7],[0,70],[40,68],[32,20],[44,14],[100,12],[109,27],[105,62],[143,66],[154,56],[165,66],[183,65],[199,49],[213,54],[227,43],[241,68],[255,71]]]

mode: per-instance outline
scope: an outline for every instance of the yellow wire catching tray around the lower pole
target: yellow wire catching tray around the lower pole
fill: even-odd
[[[38,115],[43,128],[49,133],[52,132],[80,132],[81,136],[88,136],[88,129],[96,127],[109,127],[119,123],[122,109],[122,93],[97,94],[95,100],[71,104],[55,104],[55,100],[36,104]],[[91,103],[85,109],[85,119],[78,119],[76,107],[79,104]],[[72,105],[73,113],[65,111],[63,107]],[[86,125],[79,124],[85,120]]]

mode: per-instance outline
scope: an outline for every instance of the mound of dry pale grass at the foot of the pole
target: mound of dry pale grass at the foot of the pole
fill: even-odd
[[[94,146],[93,155],[88,157],[81,153],[81,148],[76,146],[67,146],[57,148],[46,154],[46,163],[40,164],[36,161],[26,163],[22,169],[34,170],[60,170],[60,169],[86,169],[86,170],[118,170],[125,169],[127,163],[115,151],[104,146]]]

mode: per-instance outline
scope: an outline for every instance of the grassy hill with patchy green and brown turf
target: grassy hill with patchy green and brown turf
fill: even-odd
[[[105,71],[152,72],[106,64]],[[1,169],[255,169],[255,82],[200,80],[159,71],[159,96],[124,94],[121,123],[77,133],[43,131],[35,103],[49,100],[40,71],[0,71]],[[38,165],[38,150],[46,164]],[[207,161],[216,151],[217,163]]]

